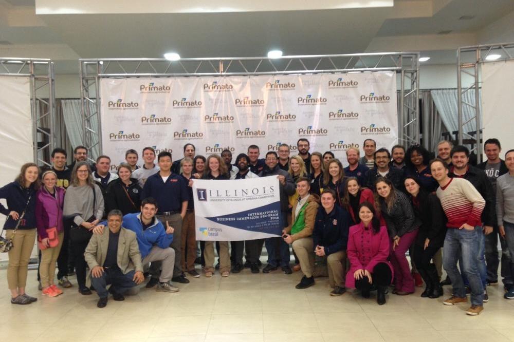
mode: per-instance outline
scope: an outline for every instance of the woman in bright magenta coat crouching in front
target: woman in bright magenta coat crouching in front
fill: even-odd
[[[383,305],[393,279],[393,266],[387,260],[389,235],[370,202],[359,205],[359,218],[360,223],[351,226],[348,234],[346,254],[350,271],[346,274],[346,287],[357,288],[364,298],[369,298],[372,287],[376,287],[377,303]]]

